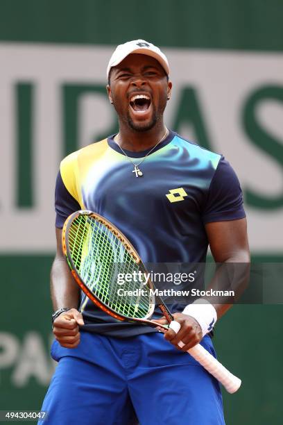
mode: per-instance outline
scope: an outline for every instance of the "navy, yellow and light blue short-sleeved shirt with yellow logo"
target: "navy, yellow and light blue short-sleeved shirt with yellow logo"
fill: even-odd
[[[147,151],[126,154],[139,163]],[[113,136],[62,160],[55,188],[56,223],[76,210],[92,210],[112,222],[132,242],[144,263],[204,263],[205,224],[245,217],[239,180],[218,153],[173,131],[139,166]],[[117,322],[82,297],[85,329],[115,336],[154,331]]]

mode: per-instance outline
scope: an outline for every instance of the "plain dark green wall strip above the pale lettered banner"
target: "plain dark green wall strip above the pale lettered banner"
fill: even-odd
[[[283,49],[281,0],[1,0],[0,40]]]

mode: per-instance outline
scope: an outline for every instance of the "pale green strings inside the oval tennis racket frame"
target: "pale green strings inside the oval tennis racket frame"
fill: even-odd
[[[139,272],[139,265],[117,232],[93,217],[80,215],[69,227],[69,251],[89,290],[106,306],[127,317],[148,317],[152,305],[145,278],[132,278],[125,285],[118,283],[119,274],[133,276],[133,272]],[[119,288],[126,294],[119,295]]]

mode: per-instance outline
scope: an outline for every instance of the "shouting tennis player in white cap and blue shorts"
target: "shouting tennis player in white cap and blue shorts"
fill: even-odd
[[[56,182],[51,353],[58,367],[42,410],[56,425],[128,425],[136,417],[141,425],[224,424],[218,382],[183,351],[200,342],[215,356],[207,333],[230,304],[176,307],[180,331],[163,336],[96,309],[62,256],[65,219],[87,209],[116,225],[145,263],[203,263],[208,243],[217,263],[249,260],[232,168],[164,125],[172,89],[166,56],[144,40],[121,44],[107,76],[119,133],[65,158]]]

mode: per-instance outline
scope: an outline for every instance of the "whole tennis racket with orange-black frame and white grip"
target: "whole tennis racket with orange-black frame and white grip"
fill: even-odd
[[[128,239],[107,219],[92,211],[71,214],[62,230],[62,249],[76,283],[96,306],[115,319],[136,322],[168,331],[150,320],[157,305],[169,324],[174,320],[162,299],[154,296],[155,287],[146,281],[146,268]],[[140,273],[139,273],[140,272]],[[118,276],[139,276],[123,285],[121,296]],[[120,295],[119,295],[120,293]],[[177,322],[173,322],[177,324]],[[178,327],[174,326],[178,331]],[[183,347],[182,342],[179,343]],[[212,374],[225,389],[236,392],[241,380],[231,374],[202,345],[188,353]]]

